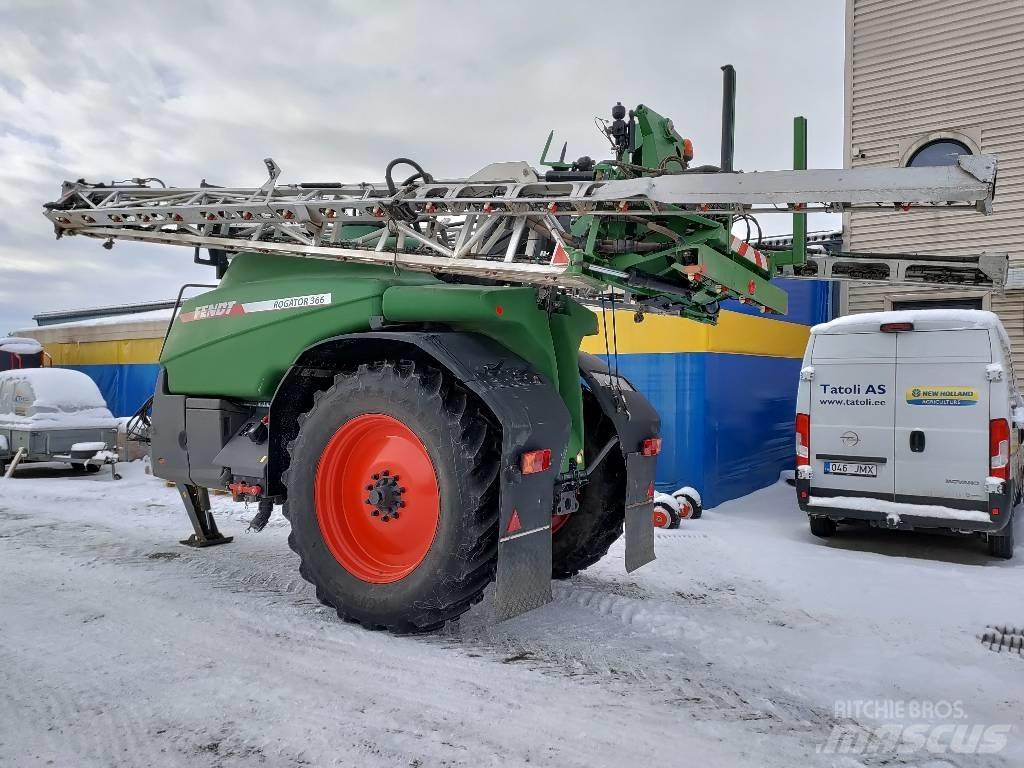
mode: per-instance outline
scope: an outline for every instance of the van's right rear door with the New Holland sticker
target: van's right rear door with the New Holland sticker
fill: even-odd
[[[896,500],[942,504],[988,497],[987,330],[896,337]]]

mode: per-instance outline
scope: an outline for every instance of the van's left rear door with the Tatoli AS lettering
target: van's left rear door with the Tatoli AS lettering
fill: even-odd
[[[892,500],[894,334],[816,334],[811,350],[812,487]]]

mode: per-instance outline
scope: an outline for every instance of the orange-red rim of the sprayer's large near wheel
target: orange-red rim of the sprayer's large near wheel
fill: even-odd
[[[440,520],[437,474],[426,446],[384,414],[358,416],[334,433],[316,467],[314,503],[331,554],[370,584],[416,570]]]

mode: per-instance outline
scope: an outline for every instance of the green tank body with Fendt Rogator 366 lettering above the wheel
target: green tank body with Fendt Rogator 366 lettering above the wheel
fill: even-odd
[[[184,302],[161,364],[172,393],[266,402],[305,348],[370,330],[372,317],[487,336],[558,389],[583,447],[578,353],[594,313],[562,297],[550,313],[526,287],[451,285],[424,272],[257,253],[236,256],[220,285]]]

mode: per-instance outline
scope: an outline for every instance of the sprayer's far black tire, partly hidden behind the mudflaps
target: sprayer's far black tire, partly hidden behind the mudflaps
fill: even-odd
[[[584,392],[584,463],[615,434],[594,396]],[[568,579],[608,553],[626,519],[626,461],[614,447],[580,492],[580,509],[552,532],[551,575]],[[554,526],[553,526],[554,527]]]

